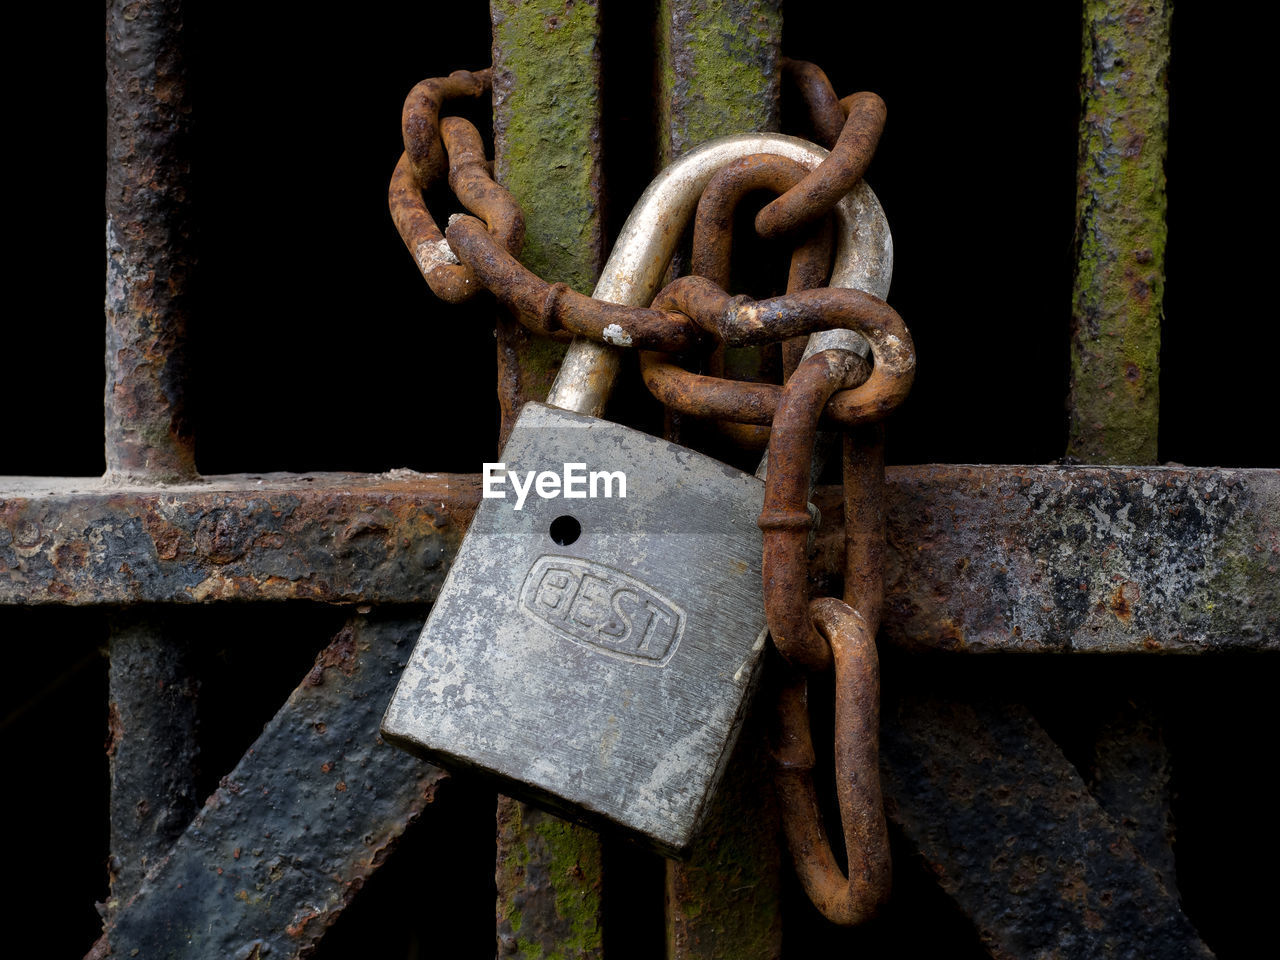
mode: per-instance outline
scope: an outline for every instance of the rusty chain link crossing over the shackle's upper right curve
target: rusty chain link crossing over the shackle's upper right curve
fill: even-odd
[[[845,97],[840,105],[846,120],[831,155],[756,214],[755,229],[762,237],[778,237],[813,223],[867,173],[884,131],[884,101],[863,92]]]

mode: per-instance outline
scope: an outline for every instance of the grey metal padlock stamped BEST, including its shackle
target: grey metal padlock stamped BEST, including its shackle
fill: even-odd
[[[760,152],[813,168],[827,151],[745,134],[686,154],[640,198],[593,296],[648,305],[703,187]],[[863,285],[856,265],[888,256],[874,195],[842,204],[837,221],[837,264]],[[579,338],[547,403],[521,411],[500,458],[515,483],[486,475],[494,495],[481,499],[383,735],[678,856],[762,662],[763,484],[596,419],[618,362],[616,347]]]

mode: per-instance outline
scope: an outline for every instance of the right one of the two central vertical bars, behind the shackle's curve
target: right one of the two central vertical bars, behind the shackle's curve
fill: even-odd
[[[659,0],[664,164],[713,137],[778,129],[781,8],[780,0]],[[737,371],[750,365],[730,360]],[[762,727],[759,718],[748,724],[691,858],[667,861],[671,960],[781,954],[778,820]]]

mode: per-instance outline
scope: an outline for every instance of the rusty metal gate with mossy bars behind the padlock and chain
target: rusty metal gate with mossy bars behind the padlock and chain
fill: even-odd
[[[1253,955],[1277,852],[1260,767],[1280,472],[1254,303],[1216,283],[1261,268],[1222,225],[1251,214],[1251,161],[1201,133],[1248,110],[1212,86],[1234,63],[1221,18],[180,8],[108,9],[105,476],[82,443],[96,306],[9,337],[0,736],[15,920],[51,892],[69,911],[46,952],[489,956],[497,936],[500,956],[607,960]],[[687,864],[376,737],[475,509],[470,471],[557,361],[507,317],[494,361],[492,306],[444,307],[413,275],[379,196],[399,99],[492,58],[524,259],[589,291],[659,163],[780,122],[808,134],[780,50],[888,102],[868,179],[922,358],[888,448],[928,463],[888,470],[896,886],[854,931],[781,869],[750,735]],[[97,236],[67,247],[96,257]],[[93,264],[73,271],[91,297],[58,279],[77,305],[101,293]],[[616,407],[660,413],[639,390]],[[989,465],[1009,462],[1043,466]],[[818,500],[835,577],[838,499]]]

